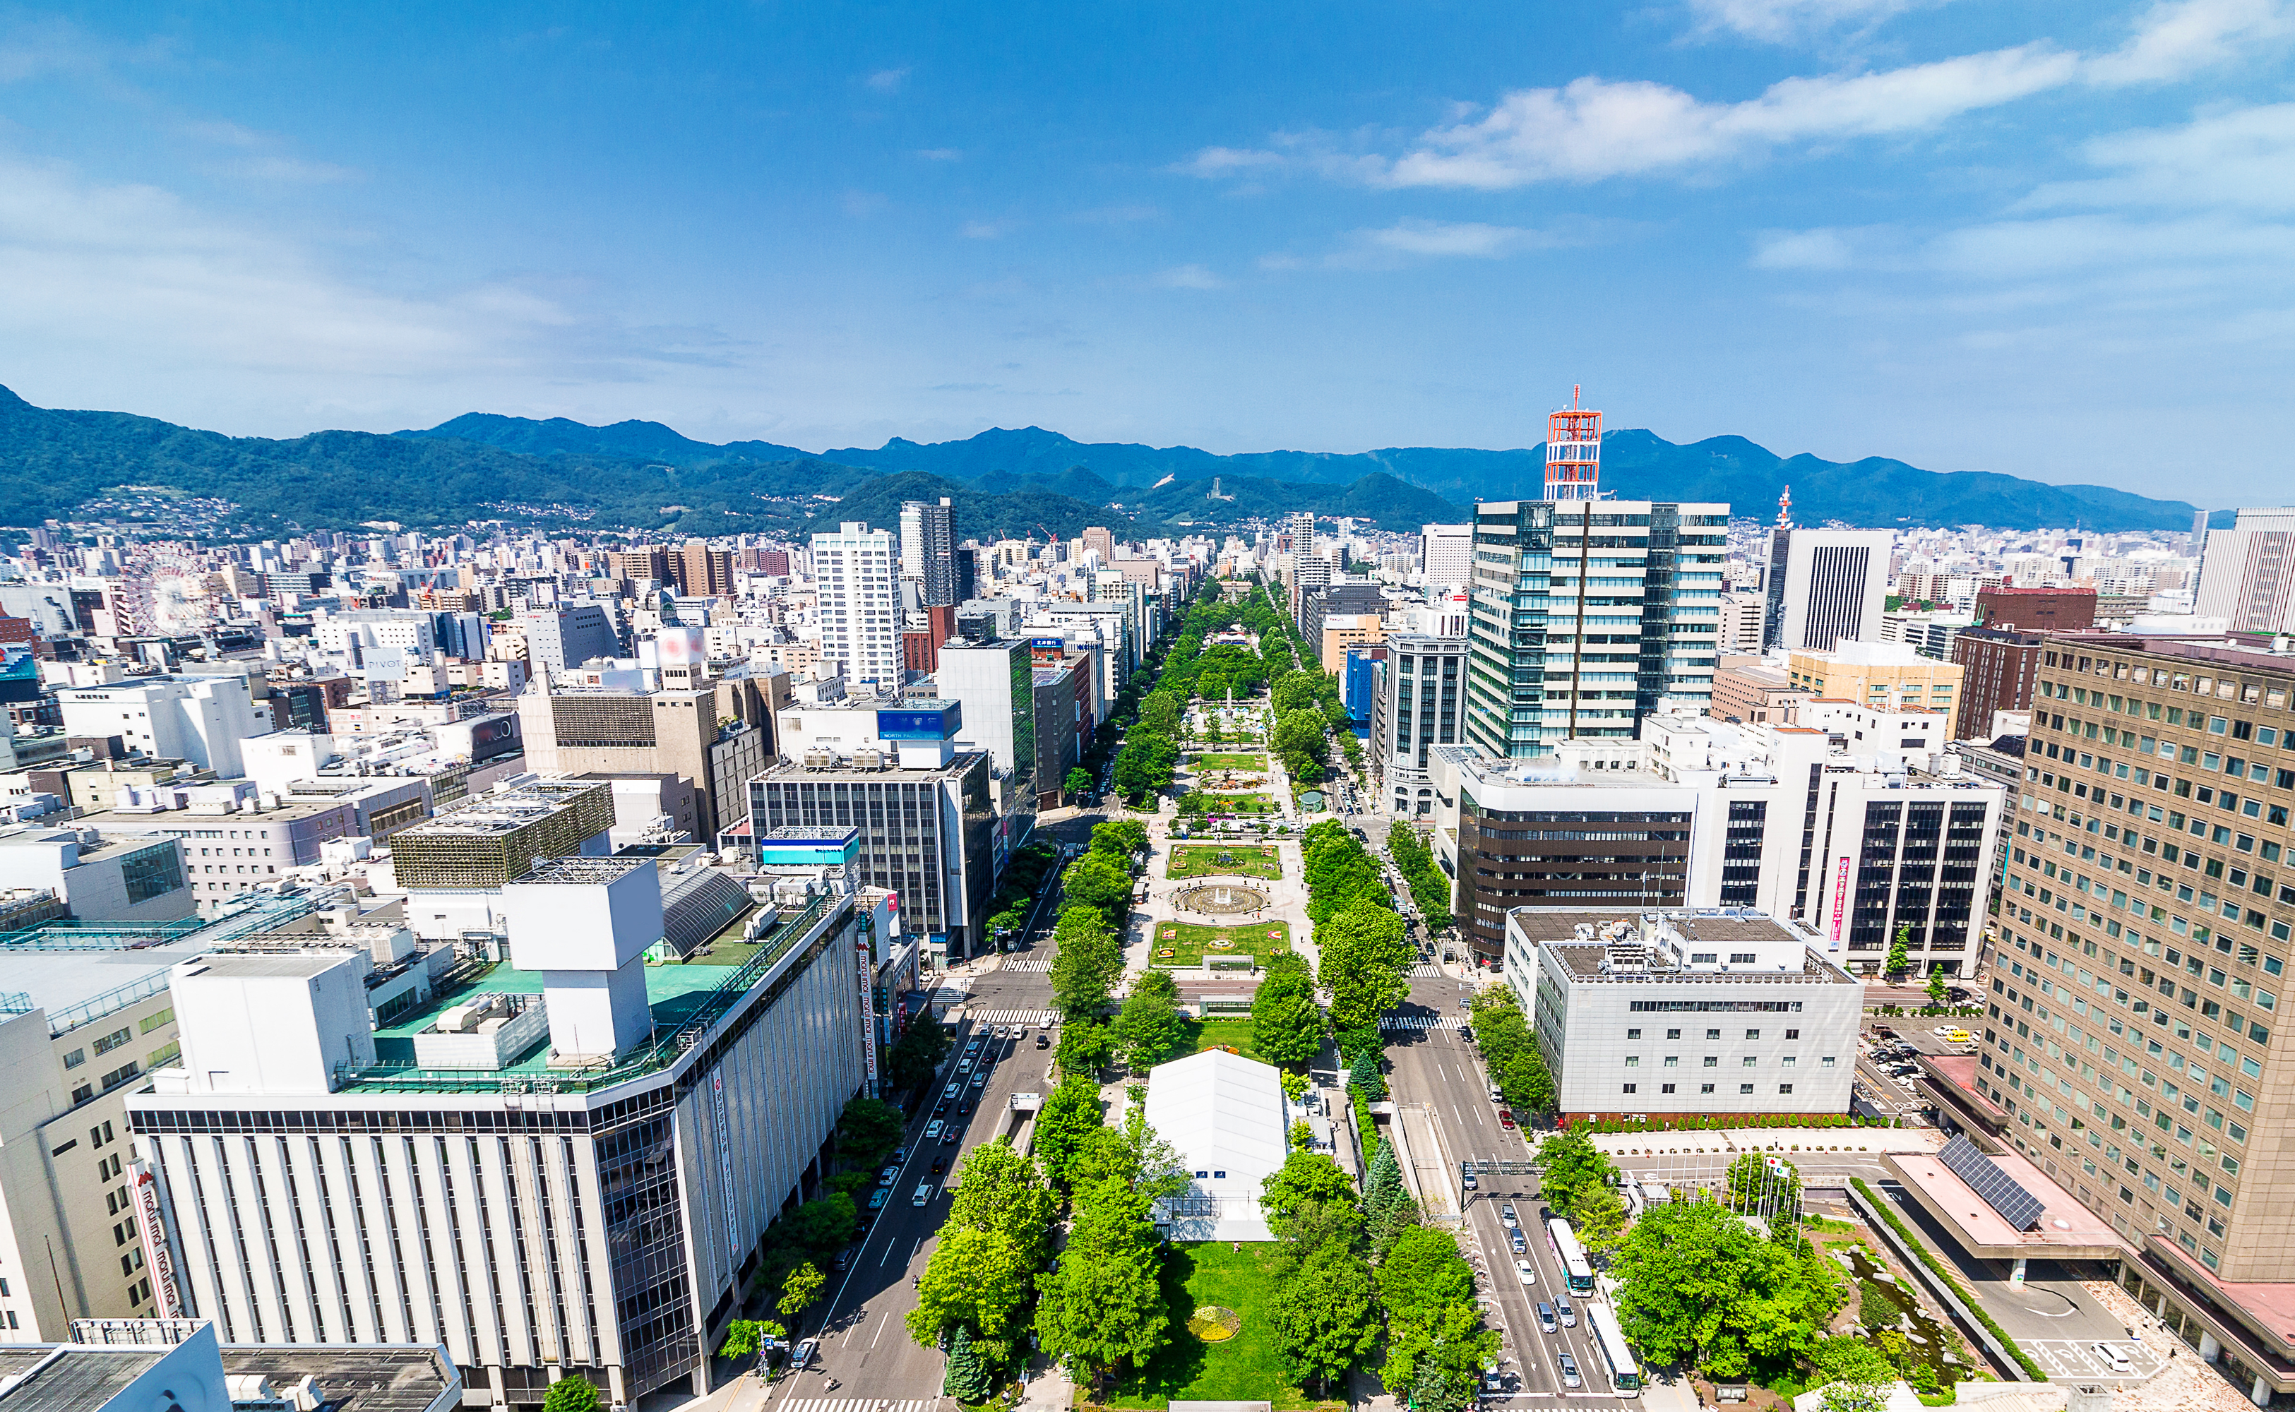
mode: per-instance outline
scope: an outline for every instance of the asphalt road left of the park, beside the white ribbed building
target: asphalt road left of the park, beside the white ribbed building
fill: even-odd
[[[1092,824],[1106,822],[1104,813],[1079,813],[1040,829],[1056,843],[1086,843]],[[1058,886],[1058,884],[1053,884]],[[1037,923],[1017,944],[1017,955],[1051,951],[1051,928],[1058,918],[1058,893],[1037,911]],[[975,1010],[1049,1010],[1051,976],[1047,971],[996,969],[973,980]],[[884,1210],[870,1226],[863,1242],[851,1247],[845,1274],[833,1274],[831,1299],[812,1332],[819,1336],[819,1352],[812,1368],[794,1380],[783,1380],[773,1389],[773,1401],[785,1398],[936,1398],[941,1394],[943,1357],[939,1348],[923,1348],[909,1336],[902,1318],[916,1309],[911,1279],[925,1272],[932,1258],[934,1235],[948,1219],[948,1187],[959,1159],[980,1143],[994,1141],[1014,1127],[1014,1093],[1049,1093],[1047,1072],[1051,1049],[1035,1047],[1035,1029],[1028,1038],[994,1040],[982,1035],[980,1054],[987,1061],[978,1072],[987,1074],[980,1086],[971,1084],[971,1072],[962,1072],[964,1045],[973,1038],[973,1026],[959,1026],[948,1063],[934,1088],[934,1102],[923,1104],[909,1120],[909,1157],[890,1185]],[[934,1118],[939,1093],[957,1081],[964,1086],[964,1102],[950,1104],[943,1123],[952,1116],[964,1123],[957,1143],[925,1141],[925,1127]],[[943,1162],[946,1171],[934,1173],[932,1164]],[[911,1205],[918,1185],[932,1185],[925,1205]],[[831,1382],[835,1387],[831,1387]]]

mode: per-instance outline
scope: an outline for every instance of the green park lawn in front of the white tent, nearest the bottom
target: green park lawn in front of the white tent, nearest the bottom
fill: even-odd
[[[1164,1297],[1170,1299],[1170,1341],[1108,1394],[1108,1407],[1170,1407],[1182,1403],[1274,1403],[1278,1412],[1313,1407],[1306,1391],[1292,1387],[1276,1348],[1276,1281],[1262,1267],[1274,1254],[1269,1242],[1244,1242],[1244,1249],[1221,1240],[1175,1244],[1164,1254]],[[1232,1309],[1244,1318],[1235,1339],[1205,1343],[1187,1332],[1187,1320],[1203,1304]]]

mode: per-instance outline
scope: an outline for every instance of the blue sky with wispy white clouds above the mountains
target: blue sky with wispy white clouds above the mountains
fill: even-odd
[[[2286,503],[2295,0],[0,5],[0,381]]]

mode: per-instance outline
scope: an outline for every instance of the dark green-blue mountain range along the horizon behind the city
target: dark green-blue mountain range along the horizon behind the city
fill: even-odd
[[[1921,471],[1886,457],[1779,457],[1742,436],[1602,439],[1602,487],[1620,498],[1724,501],[1767,519],[1792,487],[1802,523],[2086,526],[2187,530],[2194,507],[2095,484],[1983,471]],[[0,388],[0,521],[69,519],[117,487],[220,496],[246,533],[365,521],[468,519],[806,533],[845,519],[893,523],[900,501],[948,496],[966,535],[1187,533],[1294,510],[1391,530],[1457,523],[1473,501],[1538,496],[1540,448],[1386,448],[1214,455],[1189,445],[1081,443],[1042,427],[964,441],[886,441],[819,455],[771,441],[707,443],[661,422],[606,427],[466,413],[436,427],[223,436],[117,411],[57,411]],[[2228,512],[2219,512],[2228,523]]]

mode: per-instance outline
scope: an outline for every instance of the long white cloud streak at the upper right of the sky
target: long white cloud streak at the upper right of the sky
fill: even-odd
[[[1714,0],[1735,5],[1737,0]],[[1955,117],[2070,85],[2118,87],[2189,78],[2295,30],[2295,0],[2164,0],[2114,53],[2082,55],[2045,39],[1900,69],[1786,78],[1760,96],[1714,103],[1648,80],[1584,76],[1515,90],[1418,135],[1400,156],[1347,156],[1329,142],[1276,138],[1267,149],[1205,147],[1177,165],[1193,177],[1267,168],[1315,170],[1370,186],[1508,191],[1538,181],[1685,172],[1753,161],[1772,149],[1930,131]],[[1792,14],[1880,9],[1857,0],[1744,0],[1744,23]],[[1714,14],[1721,14],[1719,9]]]

